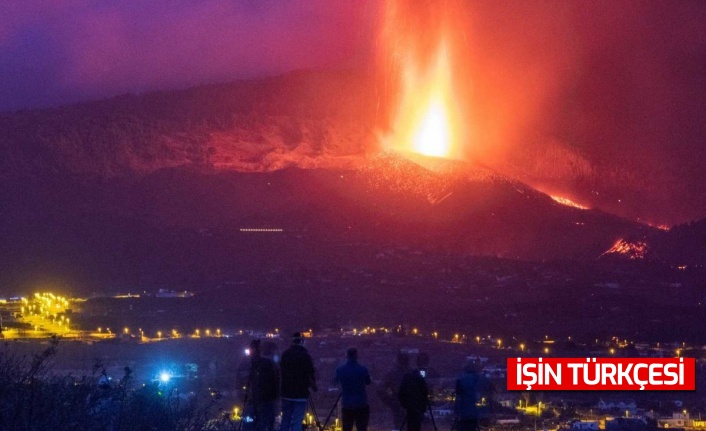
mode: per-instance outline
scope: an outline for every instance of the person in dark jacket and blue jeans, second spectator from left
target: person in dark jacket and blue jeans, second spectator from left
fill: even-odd
[[[304,337],[297,332],[292,345],[282,353],[282,424],[280,431],[301,431],[309,389],[316,392],[314,363],[303,346]]]

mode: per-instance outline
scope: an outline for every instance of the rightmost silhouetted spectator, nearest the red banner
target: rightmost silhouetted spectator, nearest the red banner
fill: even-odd
[[[479,362],[469,362],[463,374],[456,379],[454,415],[455,429],[458,431],[478,431],[480,420],[485,416],[478,402],[483,398],[488,406],[492,402],[492,386],[480,371]]]

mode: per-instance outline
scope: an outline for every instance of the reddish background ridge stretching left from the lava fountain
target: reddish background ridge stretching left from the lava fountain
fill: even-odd
[[[319,167],[372,144],[366,88],[352,73],[300,72],[0,114],[0,175]]]

